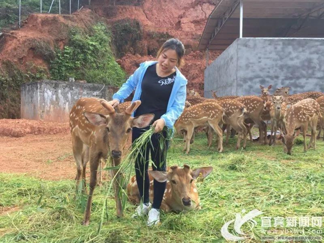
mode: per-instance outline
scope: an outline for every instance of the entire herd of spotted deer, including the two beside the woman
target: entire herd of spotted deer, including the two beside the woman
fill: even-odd
[[[190,144],[194,142],[197,128],[204,127],[208,146],[212,145],[214,132],[218,140],[218,152],[223,151],[223,132],[229,135],[238,134],[236,149],[246,147],[247,136],[252,139],[251,129],[254,125],[259,129],[259,143],[274,145],[276,131],[280,131],[285,151],[292,153],[294,139],[299,133],[303,134],[304,150],[316,148],[316,139],[324,131],[324,94],[321,92],[305,92],[289,95],[289,87],[278,88],[273,95],[269,94],[270,85],[264,88],[260,85],[260,96],[224,96],[213,99],[200,97],[194,90],[187,91],[187,100],[183,113],[175,123],[177,134],[184,134],[184,150],[190,151]],[[106,100],[96,98],[80,98],[70,112],[70,132],[72,135],[72,150],[76,163],[76,189],[82,181],[83,192],[86,190],[86,166],[90,164],[90,190],[85,211],[83,225],[89,225],[91,215],[92,196],[97,185],[97,172],[102,161],[109,158],[112,167],[120,164],[123,149],[133,127],[144,128],[151,124],[153,114],[143,114],[132,117],[131,114],[141,104],[140,101],[124,102],[113,108]],[[271,134],[268,141],[267,124],[271,123]],[[311,137],[306,146],[308,127]],[[316,137],[316,129],[319,132]],[[324,140],[324,135],[323,135]],[[167,181],[167,188],[161,209],[165,211],[191,211],[199,209],[199,197],[194,179],[206,177],[212,172],[212,167],[202,167],[191,170],[188,165],[183,168],[172,166],[168,172],[149,171],[150,197],[153,195],[153,179]],[[99,170],[100,172],[100,170]],[[117,170],[110,170],[110,177],[114,178],[113,188],[116,201],[117,217],[123,216],[123,208],[119,198],[121,188],[120,179],[123,175]],[[101,175],[100,175],[101,179]],[[171,183],[172,182],[172,183]],[[139,203],[139,192],[135,177],[131,178],[126,188],[129,199]]]

